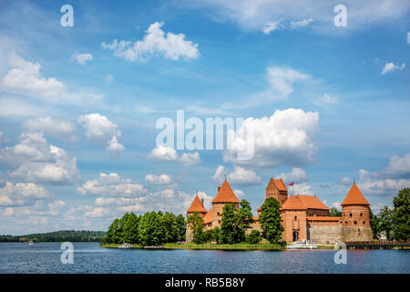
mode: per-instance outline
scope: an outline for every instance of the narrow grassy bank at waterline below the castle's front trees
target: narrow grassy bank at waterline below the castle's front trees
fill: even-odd
[[[273,245],[273,244],[237,244],[237,245],[195,245],[195,244],[166,244],[164,248],[184,248],[184,249],[219,249],[219,250],[282,250],[285,246]]]

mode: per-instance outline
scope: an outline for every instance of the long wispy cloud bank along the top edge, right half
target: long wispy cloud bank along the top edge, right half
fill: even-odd
[[[244,30],[260,30],[271,19],[284,22],[303,19],[310,16],[320,24],[321,31],[337,29],[333,26],[333,8],[340,1],[315,0],[191,0],[185,5],[210,9],[212,19],[217,22],[233,21]],[[402,0],[356,0],[349,3],[349,27],[361,29],[380,23],[395,23],[405,19],[410,4]],[[330,25],[332,24],[332,25]],[[333,30],[332,30],[333,29]]]

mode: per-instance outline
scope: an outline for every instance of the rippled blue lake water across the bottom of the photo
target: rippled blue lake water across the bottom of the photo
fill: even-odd
[[[410,250],[349,250],[347,264],[335,250],[214,251],[100,248],[74,243],[74,264],[61,263],[61,244],[0,243],[5,273],[410,273]]]

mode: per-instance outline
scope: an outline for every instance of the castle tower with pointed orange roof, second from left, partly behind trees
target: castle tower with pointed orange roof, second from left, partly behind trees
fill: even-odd
[[[218,188],[218,193],[212,200],[212,227],[220,226],[222,220],[222,210],[225,204],[234,203],[237,208],[239,208],[240,201],[233,193],[231,185],[225,179],[222,185]]]

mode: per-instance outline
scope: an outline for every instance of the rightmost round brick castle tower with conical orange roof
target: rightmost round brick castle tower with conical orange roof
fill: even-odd
[[[344,241],[372,240],[370,227],[370,203],[364,198],[356,183],[342,202]]]

